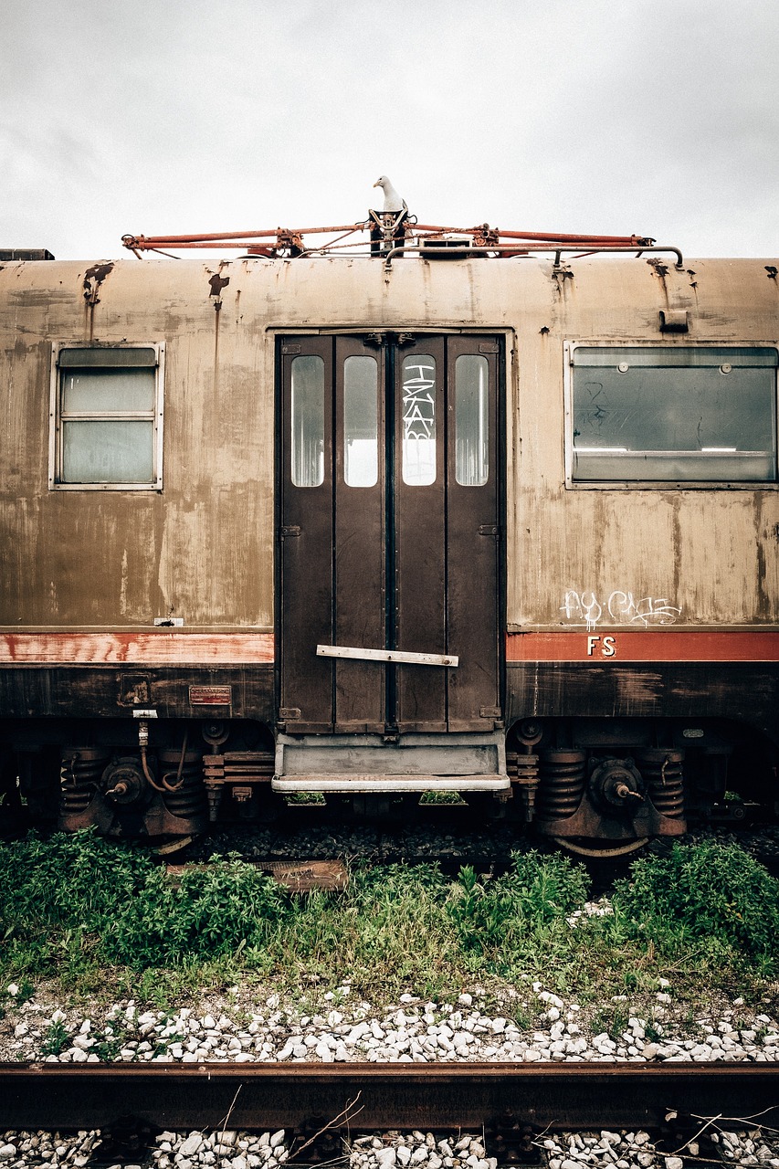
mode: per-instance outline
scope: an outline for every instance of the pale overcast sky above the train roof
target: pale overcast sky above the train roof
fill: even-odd
[[[779,254],[779,0],[2,0],[0,247],[420,222]],[[226,253],[226,255],[228,255]]]

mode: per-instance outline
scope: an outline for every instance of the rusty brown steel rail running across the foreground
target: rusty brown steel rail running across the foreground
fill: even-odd
[[[0,1129],[630,1129],[669,1109],[778,1127],[779,1064],[0,1064]]]

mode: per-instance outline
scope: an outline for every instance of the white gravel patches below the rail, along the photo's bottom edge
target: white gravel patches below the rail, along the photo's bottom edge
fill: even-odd
[[[740,1132],[712,1127],[708,1136],[723,1162],[735,1165],[766,1165],[779,1169],[779,1140],[768,1129]],[[660,1151],[648,1133],[602,1129],[599,1133],[540,1134],[535,1143],[543,1149],[550,1169],[683,1169],[682,1155],[698,1157],[698,1140],[671,1154]],[[708,1146],[711,1150],[711,1144]],[[335,1163],[344,1169],[497,1169],[497,1158],[488,1156],[480,1134],[453,1133],[372,1133],[356,1136],[345,1144]],[[74,1167],[82,1169],[90,1157],[101,1156],[98,1129],[77,1134],[7,1132],[0,1134],[0,1165]],[[682,1155],[680,1155],[682,1154]],[[288,1136],[276,1133],[251,1134],[234,1130],[188,1133],[163,1132],[144,1165],[150,1169],[281,1169],[290,1157]],[[292,1163],[292,1162],[290,1162]],[[333,1163],[333,1162],[330,1162]],[[111,1165],[110,1169],[122,1169]],[[125,1164],[124,1169],[140,1169]]]

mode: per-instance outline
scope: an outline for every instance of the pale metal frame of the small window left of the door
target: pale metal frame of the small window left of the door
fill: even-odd
[[[152,471],[153,478],[144,483],[66,483],[62,479],[63,458],[63,423],[70,415],[62,409],[62,373],[67,368],[61,365],[61,354],[68,350],[91,350],[96,353],[126,353],[135,350],[154,351],[154,404],[151,410],[90,410],[74,411],[74,421],[120,421],[151,422],[152,433]],[[78,368],[74,366],[74,368]],[[95,362],[94,368],[151,368],[150,366],[123,366],[117,361],[106,361],[104,366]],[[163,490],[163,403],[165,386],[165,343],[133,341],[120,345],[89,345],[83,341],[54,341],[51,345],[51,383],[49,401],[49,490],[50,491],[161,491]]]

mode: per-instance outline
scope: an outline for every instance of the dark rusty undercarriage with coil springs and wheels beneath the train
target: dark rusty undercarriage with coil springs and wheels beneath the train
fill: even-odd
[[[280,823],[296,803],[338,823],[392,829],[422,819],[430,805],[440,815],[451,801],[469,830],[508,825],[572,853],[619,856],[653,837],[680,837],[690,824],[739,826],[779,812],[775,748],[723,719],[523,719],[494,736],[501,782],[488,775],[481,787],[463,768],[432,777],[411,774],[412,763],[399,779],[398,759],[419,746],[402,736],[386,745],[392,777],[354,765],[350,788],[343,772],[340,781],[280,776],[280,746],[249,719],[30,719],[0,729],[4,831],[95,826],[113,838],[174,842],[229,824]],[[304,738],[280,738],[288,755],[304,753]],[[368,738],[353,736],[352,756]],[[429,760],[434,745],[423,747]],[[459,743],[448,758],[475,749]]]

